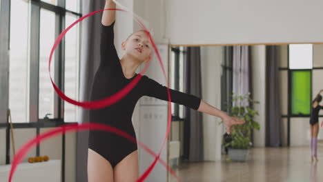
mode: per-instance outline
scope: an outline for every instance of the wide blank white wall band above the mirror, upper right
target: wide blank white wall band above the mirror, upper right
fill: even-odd
[[[172,44],[323,42],[322,7],[319,0],[168,0],[166,37]]]

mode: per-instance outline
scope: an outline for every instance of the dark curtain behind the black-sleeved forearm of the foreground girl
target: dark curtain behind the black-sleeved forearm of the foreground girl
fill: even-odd
[[[199,47],[186,48],[184,54],[185,92],[202,98],[201,53]],[[184,159],[204,160],[202,113],[186,108],[184,123]]]

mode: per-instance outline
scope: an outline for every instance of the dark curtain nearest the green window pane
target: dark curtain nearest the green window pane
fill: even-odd
[[[282,146],[282,113],[280,110],[280,88],[278,81],[277,46],[266,46],[266,146]]]

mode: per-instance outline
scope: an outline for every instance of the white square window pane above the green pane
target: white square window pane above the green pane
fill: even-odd
[[[289,45],[289,68],[312,69],[313,68],[313,45],[291,44]]]

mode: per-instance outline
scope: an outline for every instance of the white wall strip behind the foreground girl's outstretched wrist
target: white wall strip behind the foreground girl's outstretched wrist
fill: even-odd
[[[221,110],[222,46],[201,48],[202,99]],[[221,119],[203,114],[204,160],[221,160],[223,126]]]

